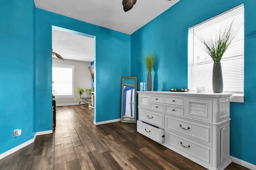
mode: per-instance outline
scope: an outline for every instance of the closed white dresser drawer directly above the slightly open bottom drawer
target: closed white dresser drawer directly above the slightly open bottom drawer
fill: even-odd
[[[164,127],[164,114],[162,113],[152,113],[151,111],[139,109],[139,120],[158,127]]]

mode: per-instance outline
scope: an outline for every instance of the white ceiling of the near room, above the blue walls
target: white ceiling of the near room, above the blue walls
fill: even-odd
[[[34,0],[36,8],[132,34],[179,0],[137,0],[124,12],[122,0]]]

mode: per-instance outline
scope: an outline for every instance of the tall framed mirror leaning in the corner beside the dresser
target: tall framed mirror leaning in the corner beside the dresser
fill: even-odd
[[[121,122],[137,121],[137,77],[122,77]]]

